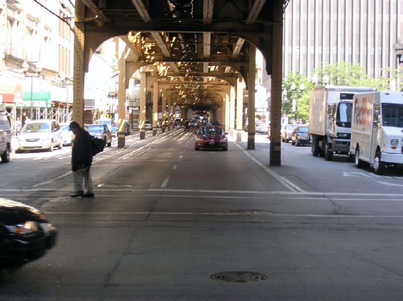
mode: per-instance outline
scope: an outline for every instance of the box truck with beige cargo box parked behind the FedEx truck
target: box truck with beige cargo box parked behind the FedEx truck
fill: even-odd
[[[328,85],[311,90],[309,134],[314,157],[332,161],[333,154],[349,155],[353,96],[375,90]]]

